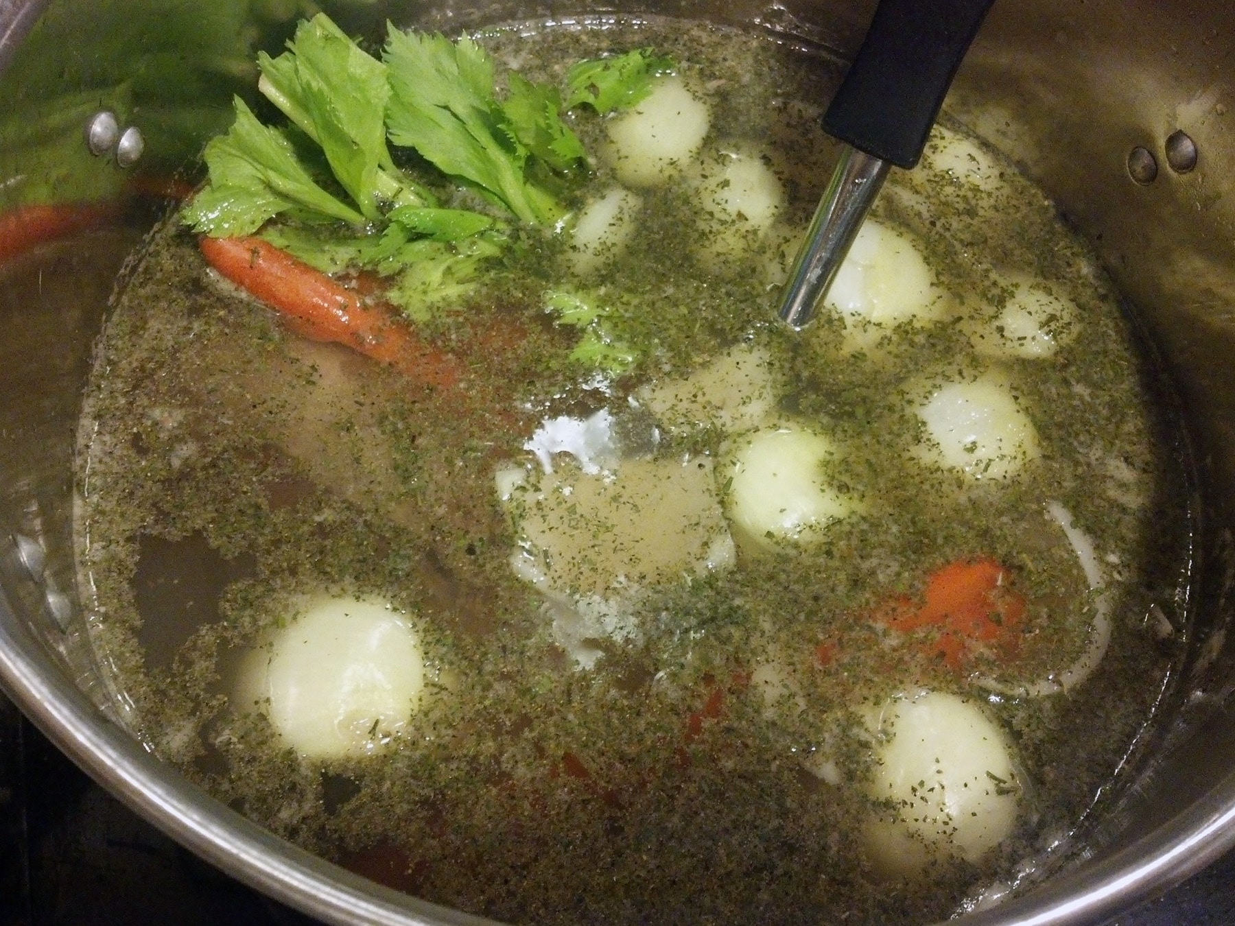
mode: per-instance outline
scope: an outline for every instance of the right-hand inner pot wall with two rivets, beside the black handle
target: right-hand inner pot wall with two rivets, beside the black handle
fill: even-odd
[[[1226,11],[1032,6],[997,5],[950,105],[1037,179],[1094,243],[1172,374],[1203,499],[1197,664],[1187,696],[1204,714],[1228,701],[1233,675],[1235,200],[1226,165],[1235,161],[1235,88],[1215,28]],[[1172,151],[1181,138],[1186,154],[1187,142],[1194,146],[1194,164]],[[1135,158],[1145,158],[1137,148],[1152,169],[1137,169]],[[1213,769],[1235,763],[1235,742],[1220,724],[1197,742],[1204,748],[1194,745],[1146,773],[1151,794],[1149,779],[1162,775],[1171,796],[1156,795],[1165,800],[1157,809],[1149,806],[1153,800],[1140,805],[1135,832],[1203,793]]]

